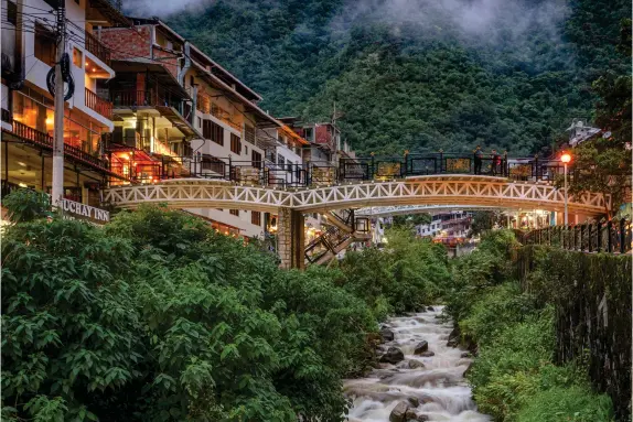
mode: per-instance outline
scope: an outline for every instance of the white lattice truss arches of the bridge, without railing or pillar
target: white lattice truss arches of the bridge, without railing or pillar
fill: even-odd
[[[277,188],[213,181],[175,178],[157,184],[110,187],[104,202],[122,208],[164,203],[174,208],[234,208],[303,213],[394,205],[459,205],[561,212],[565,191],[543,182],[515,182],[504,177],[431,175],[386,182],[350,182],[331,186]],[[605,213],[608,198],[586,193],[568,198],[570,214]]]

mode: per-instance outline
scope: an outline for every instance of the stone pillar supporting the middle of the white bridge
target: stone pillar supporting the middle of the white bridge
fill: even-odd
[[[305,234],[303,214],[291,208],[280,208],[278,217],[277,250],[281,264],[290,269],[305,268]]]

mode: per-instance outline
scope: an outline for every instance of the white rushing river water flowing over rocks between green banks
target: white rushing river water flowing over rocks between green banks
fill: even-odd
[[[400,402],[407,403],[418,415],[418,419],[404,418],[405,422],[491,421],[490,416],[476,411],[463,378],[472,359],[462,358],[464,350],[447,346],[452,324],[442,323],[438,318],[441,313],[442,306],[434,306],[433,311],[387,321],[386,327],[394,333],[394,340],[380,348],[385,351],[395,346],[403,350],[405,359],[396,365],[380,364],[369,378],[345,381],[345,394],[354,400],[350,422],[388,422],[389,414]],[[428,350],[434,356],[414,354],[416,345],[422,340],[428,342]],[[411,360],[415,360],[412,366],[422,363],[423,367],[409,369]]]

